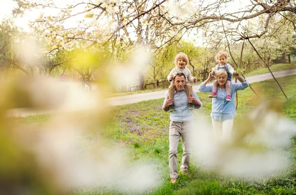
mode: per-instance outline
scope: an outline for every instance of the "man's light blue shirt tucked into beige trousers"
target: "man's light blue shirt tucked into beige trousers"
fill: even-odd
[[[202,107],[202,103],[199,100],[196,93],[193,91],[193,97],[200,102],[200,109]],[[168,99],[168,92],[166,92],[164,97],[163,105],[165,104],[166,100]],[[174,111],[170,114],[171,121],[174,122],[188,122],[193,120],[193,110],[189,110],[188,107],[188,97],[186,95],[185,89],[182,92],[176,92],[174,95]]]

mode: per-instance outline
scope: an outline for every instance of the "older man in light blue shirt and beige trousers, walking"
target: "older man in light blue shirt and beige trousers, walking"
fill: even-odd
[[[183,157],[182,165],[180,167],[181,173],[186,173],[188,165],[190,162],[191,154],[191,140],[190,131],[192,129],[193,113],[189,110],[188,103],[193,103],[194,108],[201,108],[202,103],[197,97],[196,93],[190,97],[187,97],[184,85],[185,85],[185,75],[183,73],[178,73],[173,78],[174,84],[176,86],[176,92],[174,99],[168,99],[168,92],[165,95],[165,99],[162,105],[164,111],[169,111],[170,105],[174,104],[175,109],[170,114],[170,129],[169,129],[169,167],[171,183],[176,183],[178,178],[178,168],[177,168],[177,153],[178,153],[178,143],[180,136],[183,142]]]

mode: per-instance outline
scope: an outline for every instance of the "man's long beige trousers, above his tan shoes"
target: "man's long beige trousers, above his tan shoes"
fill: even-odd
[[[177,168],[177,153],[178,153],[178,143],[180,136],[182,137],[183,143],[183,157],[182,164],[180,166],[181,170],[187,170],[190,162],[191,155],[191,140],[190,140],[190,131],[192,127],[192,121],[189,122],[170,122],[169,129],[169,167],[170,167],[170,176],[178,178],[178,168]]]

